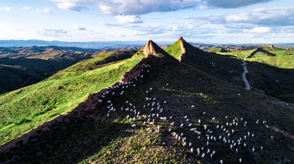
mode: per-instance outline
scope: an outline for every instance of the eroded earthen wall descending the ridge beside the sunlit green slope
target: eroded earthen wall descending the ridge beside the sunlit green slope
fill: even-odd
[[[35,138],[38,135],[38,133],[40,133],[41,131],[48,131],[51,129],[52,126],[55,126],[57,124],[70,123],[69,118],[71,116],[78,116],[78,114],[82,111],[89,111],[89,110],[97,109],[97,106],[99,105],[99,103],[101,103],[98,100],[106,101],[105,99],[102,98],[102,96],[113,93],[114,89],[120,88],[123,85],[126,85],[127,83],[131,82],[132,80],[135,79],[135,77],[137,75],[139,75],[142,72],[142,70],[145,66],[145,60],[146,59],[142,59],[140,62],[138,62],[136,65],[134,65],[132,69],[125,72],[123,74],[121,82],[116,82],[113,85],[102,89],[98,93],[90,94],[84,102],[79,103],[78,106],[76,106],[69,113],[67,113],[65,115],[60,115],[49,122],[45,122],[45,123],[39,125],[38,127],[34,128],[31,131],[22,135],[20,138],[15,139],[15,140],[11,141],[10,143],[7,143],[3,147],[0,147],[0,150],[1,151],[8,151],[11,148],[16,148],[16,147],[26,143],[27,141]]]

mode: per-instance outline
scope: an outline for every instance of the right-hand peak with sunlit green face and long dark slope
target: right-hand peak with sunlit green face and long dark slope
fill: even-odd
[[[183,46],[180,46],[183,44]],[[181,55],[181,62],[196,67],[212,76],[224,81],[244,86],[241,79],[243,73],[243,60],[240,58],[228,58],[217,53],[202,51],[180,38],[171,47],[173,52]],[[183,50],[184,49],[184,50]],[[166,49],[170,52],[170,49]],[[171,53],[172,56],[173,53]],[[178,59],[178,56],[174,56]],[[249,60],[248,60],[249,61]],[[286,62],[287,63],[287,62]],[[273,67],[260,62],[247,62],[249,70],[247,80],[252,89],[270,96],[294,93],[293,70]],[[292,64],[294,65],[294,64]]]

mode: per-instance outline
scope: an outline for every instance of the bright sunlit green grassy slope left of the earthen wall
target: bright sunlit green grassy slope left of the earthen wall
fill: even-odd
[[[93,71],[61,71],[49,79],[0,96],[0,145],[64,114],[90,93],[115,82],[142,57],[136,56]]]

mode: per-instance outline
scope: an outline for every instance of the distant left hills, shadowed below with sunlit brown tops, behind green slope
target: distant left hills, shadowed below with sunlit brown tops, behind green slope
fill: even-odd
[[[89,49],[73,49],[32,46],[6,48],[2,54],[4,51],[0,50],[0,93],[40,82],[76,62],[92,58],[93,51],[90,52]]]

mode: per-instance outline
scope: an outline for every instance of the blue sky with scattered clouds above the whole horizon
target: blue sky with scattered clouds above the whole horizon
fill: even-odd
[[[294,42],[294,0],[0,0],[0,40]]]

